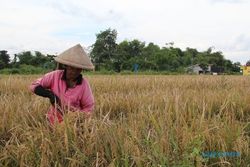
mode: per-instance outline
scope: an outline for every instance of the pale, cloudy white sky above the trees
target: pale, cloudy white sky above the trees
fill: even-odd
[[[221,51],[250,60],[250,0],[0,0],[0,50],[59,54],[94,44],[108,28],[117,42]]]

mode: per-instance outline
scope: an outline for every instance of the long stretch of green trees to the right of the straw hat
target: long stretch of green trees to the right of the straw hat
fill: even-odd
[[[140,71],[169,71],[183,73],[188,66],[200,64],[203,70],[208,65],[223,69],[226,73],[240,71],[239,64],[233,64],[224,59],[222,52],[213,52],[213,47],[199,52],[194,48],[186,48],[182,51],[174,47],[174,43],[167,43],[160,48],[154,43],[139,41],[137,39],[124,40],[116,43],[117,31],[110,28],[101,31],[96,36],[96,42],[92,45],[91,57],[96,70],[112,70],[115,72],[133,71],[134,64],[139,65]]]

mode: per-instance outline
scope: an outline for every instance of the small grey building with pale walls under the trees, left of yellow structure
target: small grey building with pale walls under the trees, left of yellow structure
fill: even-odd
[[[193,73],[193,74],[221,74],[224,72],[223,67],[218,67],[212,64],[209,64],[207,68],[204,70],[201,68],[200,64],[195,64],[192,66],[187,67],[187,72],[188,73]]]

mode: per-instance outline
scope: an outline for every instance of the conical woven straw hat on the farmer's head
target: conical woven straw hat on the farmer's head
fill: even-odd
[[[59,54],[57,57],[55,57],[55,61],[61,64],[86,70],[94,70],[95,68],[87,53],[83,50],[80,44],[77,44],[76,46],[73,46],[72,48],[69,48],[63,53]]]

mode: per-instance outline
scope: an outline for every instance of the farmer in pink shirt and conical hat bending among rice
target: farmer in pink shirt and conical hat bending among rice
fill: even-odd
[[[57,67],[62,64],[64,68],[49,72],[30,85],[33,93],[49,98],[52,106],[47,119],[50,124],[62,122],[65,112],[83,112],[90,116],[94,97],[89,82],[81,72],[83,69],[94,69],[91,60],[78,44],[55,57],[55,61]]]

